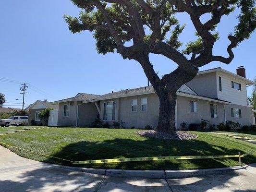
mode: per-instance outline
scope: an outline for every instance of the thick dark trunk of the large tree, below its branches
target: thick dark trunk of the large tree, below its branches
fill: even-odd
[[[159,105],[159,117],[158,126],[155,129],[157,132],[164,132],[167,134],[176,134],[175,127],[175,107],[177,95],[176,91],[171,92],[164,90],[158,94],[160,105]]]

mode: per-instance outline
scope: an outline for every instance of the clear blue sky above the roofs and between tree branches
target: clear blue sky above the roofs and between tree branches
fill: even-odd
[[[145,86],[146,76],[139,63],[123,60],[117,53],[99,55],[95,40],[89,32],[72,34],[63,21],[63,14],[77,16],[79,9],[70,0],[1,0],[0,1],[0,93],[8,103],[20,108],[22,96],[19,83],[28,83],[25,104],[48,98],[54,101],[75,96],[78,92],[105,94],[126,88]],[[220,40],[215,54],[227,56],[227,35],[237,23],[232,13],[221,19],[218,26]],[[185,13],[178,14],[186,24],[180,40],[184,44],[195,40],[195,28]],[[205,18],[202,18],[205,19]],[[235,58],[230,65],[210,63],[200,70],[222,67],[235,72],[244,65],[248,79],[256,76],[256,35],[234,49]],[[159,75],[171,72],[176,64],[159,55],[150,55]],[[248,88],[248,95],[252,87]]]

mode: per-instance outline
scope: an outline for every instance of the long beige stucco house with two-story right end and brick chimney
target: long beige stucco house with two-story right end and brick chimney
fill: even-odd
[[[241,125],[255,123],[252,106],[247,104],[246,87],[252,84],[245,78],[243,67],[237,69],[237,74],[221,68],[198,72],[177,91],[177,129],[187,129],[201,119],[215,125],[226,120]],[[97,116],[104,123],[111,125],[116,121],[123,127],[156,127],[158,123],[159,99],[152,86],[101,96],[79,93],[53,104],[59,105],[58,126],[93,126]]]

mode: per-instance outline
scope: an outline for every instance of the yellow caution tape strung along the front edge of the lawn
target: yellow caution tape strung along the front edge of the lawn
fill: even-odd
[[[18,150],[21,150],[21,151],[24,151],[26,153],[32,153],[32,154],[36,154],[36,155],[39,155],[39,156],[52,157],[52,158],[60,159],[60,160],[63,160],[63,161],[68,161],[72,164],[95,164],[95,163],[117,163],[117,162],[132,162],[132,161],[230,158],[230,157],[244,157],[244,156],[248,156],[248,155],[251,155],[251,154],[256,152],[256,150],[254,150],[254,151],[251,151],[251,152],[246,153],[244,155],[224,155],[224,156],[149,156],[149,157],[134,157],[134,158],[115,158],[115,159],[98,159],[98,160],[86,160],[86,161],[71,161],[71,160],[63,159],[63,158],[56,157],[56,156],[49,156],[49,155],[40,154],[40,153],[34,152],[34,151],[28,151],[28,150],[21,149],[21,148],[16,147],[16,146],[11,146],[11,145],[8,145],[8,144],[2,143],[2,142],[0,142],[0,144],[15,148],[15,149],[18,149]]]

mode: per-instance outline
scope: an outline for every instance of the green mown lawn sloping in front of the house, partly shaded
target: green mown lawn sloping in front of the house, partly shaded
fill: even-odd
[[[2,128],[0,128],[1,130]],[[0,141],[26,150],[68,160],[94,160],[143,156],[234,155],[256,150],[255,144],[208,132],[193,132],[194,140],[162,140],[137,135],[131,129],[42,128],[1,135]],[[31,153],[11,149],[18,155],[37,161],[69,165]],[[256,154],[242,158],[244,164],[256,162]],[[237,166],[238,158],[160,160],[87,164],[88,168],[122,169],[197,169]]]

